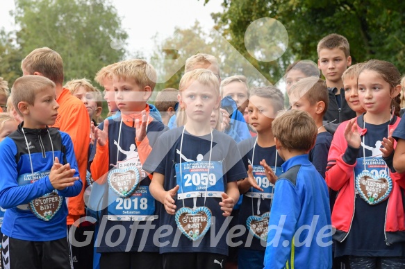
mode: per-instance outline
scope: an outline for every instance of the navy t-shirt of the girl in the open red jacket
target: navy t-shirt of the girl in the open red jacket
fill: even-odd
[[[364,116],[364,114],[363,114]],[[363,128],[363,116],[359,116],[357,124]],[[395,116],[395,119],[396,118]],[[395,119],[392,122],[395,122]],[[374,157],[379,151],[379,142],[383,137],[388,136],[388,123],[374,125],[365,123],[367,132],[364,137],[365,157]],[[363,142],[363,136],[361,137]],[[369,149],[367,149],[369,148]],[[372,148],[372,150],[371,150]],[[373,154],[374,153],[374,154]],[[363,157],[363,145],[358,152],[358,158]],[[379,155],[377,157],[382,157]],[[359,162],[358,162],[359,163]],[[387,168],[389,170],[389,168]],[[403,256],[404,248],[401,243],[386,245],[385,219],[387,204],[390,199],[384,200],[377,205],[369,205],[356,192],[355,211],[347,238],[342,243],[336,244],[336,257],[343,255],[365,256],[365,257],[394,257]]]

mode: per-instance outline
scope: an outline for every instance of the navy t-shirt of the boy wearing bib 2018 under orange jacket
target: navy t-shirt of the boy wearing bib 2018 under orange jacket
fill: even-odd
[[[121,117],[117,119],[109,119],[108,121],[108,170],[113,171],[115,168],[126,166],[131,159],[138,157],[138,148],[135,145],[135,128],[132,128],[125,123],[121,123]],[[119,126],[121,125],[121,134],[119,137]],[[104,129],[104,122],[98,127]],[[149,145],[154,146],[156,140],[167,128],[159,121],[151,121],[147,125],[147,139]],[[94,159],[97,146],[92,148],[90,155],[90,163]],[[117,159],[118,157],[118,159]],[[118,161],[118,162],[117,162]],[[93,184],[92,196],[101,198],[97,205],[101,210],[101,220],[99,234],[97,235],[97,252],[126,252],[126,251],[145,251],[145,252],[158,252],[158,245],[153,242],[153,236],[158,229],[158,220],[138,221],[138,220],[117,220],[114,219],[114,213],[128,213],[126,218],[135,218],[139,214],[147,210],[141,211],[140,209],[153,209],[149,212],[153,215],[158,215],[160,205],[151,196],[145,198],[144,193],[149,192],[149,184],[151,180],[146,174],[142,175],[140,172],[140,184],[135,190],[133,196],[129,198],[121,198],[117,193],[108,186],[108,183]],[[90,198],[90,201],[92,198]],[[147,201],[147,202],[145,202]],[[93,202],[93,201],[91,201]],[[129,212],[132,212],[129,214]],[[121,214],[117,214],[121,216]],[[122,218],[121,218],[122,219]],[[150,229],[144,229],[142,226],[147,226]],[[144,232],[148,232],[144,236]],[[144,236],[144,238],[142,238]]]

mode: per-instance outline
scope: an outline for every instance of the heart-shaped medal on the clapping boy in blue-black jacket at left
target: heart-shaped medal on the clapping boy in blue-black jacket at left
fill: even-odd
[[[51,192],[32,200],[29,203],[29,207],[37,218],[49,221],[58,213],[62,203],[63,196],[58,196],[58,193]]]

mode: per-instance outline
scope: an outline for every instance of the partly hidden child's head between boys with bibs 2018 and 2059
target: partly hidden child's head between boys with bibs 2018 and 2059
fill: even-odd
[[[166,126],[170,118],[176,114],[177,94],[179,94],[178,89],[167,88],[162,89],[156,96],[155,106],[162,116],[163,124]]]

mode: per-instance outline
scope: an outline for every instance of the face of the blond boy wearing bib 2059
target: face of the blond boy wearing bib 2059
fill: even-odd
[[[220,96],[212,86],[192,80],[179,93],[179,105],[185,109],[187,122],[208,123],[213,110],[220,106]]]

